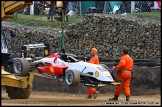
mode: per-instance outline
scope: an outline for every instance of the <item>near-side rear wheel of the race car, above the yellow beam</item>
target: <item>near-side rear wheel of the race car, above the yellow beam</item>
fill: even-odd
[[[28,76],[30,71],[30,64],[25,58],[14,58],[12,73],[20,76]]]

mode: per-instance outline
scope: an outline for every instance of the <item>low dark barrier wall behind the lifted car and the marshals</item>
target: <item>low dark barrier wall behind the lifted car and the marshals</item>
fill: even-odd
[[[161,87],[161,67],[134,67],[133,77],[131,79],[131,95],[157,94],[160,93]],[[116,75],[114,70],[113,74]],[[57,81],[57,79],[44,78],[35,76],[33,81],[33,90],[51,91],[60,93],[83,93],[87,94],[87,87],[79,84],[78,87],[68,87],[65,81]],[[97,88],[100,93],[114,92],[114,85]]]

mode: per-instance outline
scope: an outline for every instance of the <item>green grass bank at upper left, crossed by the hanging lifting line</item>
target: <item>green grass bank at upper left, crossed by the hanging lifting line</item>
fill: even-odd
[[[66,29],[67,26],[73,22],[76,22],[79,20],[80,17],[68,17],[68,22],[64,22],[64,28]],[[8,22],[13,22],[13,23],[19,23],[22,25],[27,25],[27,26],[34,26],[34,27],[46,27],[46,28],[61,28],[62,27],[62,22],[60,21],[55,21],[55,22],[50,22],[47,19],[47,16],[35,16],[35,15],[23,15],[23,14],[18,14],[17,17],[7,19],[6,21]]]

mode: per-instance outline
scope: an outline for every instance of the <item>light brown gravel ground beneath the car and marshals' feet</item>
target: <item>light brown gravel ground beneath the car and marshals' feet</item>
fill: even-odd
[[[87,99],[86,94],[69,94],[46,91],[32,91],[29,99],[9,99],[5,90],[1,90],[2,106],[120,106],[120,105],[161,105],[161,95],[131,96],[130,102],[125,102],[123,94],[118,102],[108,102],[113,93],[99,94],[97,99]],[[105,104],[107,103],[107,104]]]

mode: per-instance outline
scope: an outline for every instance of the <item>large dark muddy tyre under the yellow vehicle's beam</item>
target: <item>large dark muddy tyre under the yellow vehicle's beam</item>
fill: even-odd
[[[32,86],[28,86],[28,88],[6,86],[6,92],[10,99],[28,99],[32,92]]]

